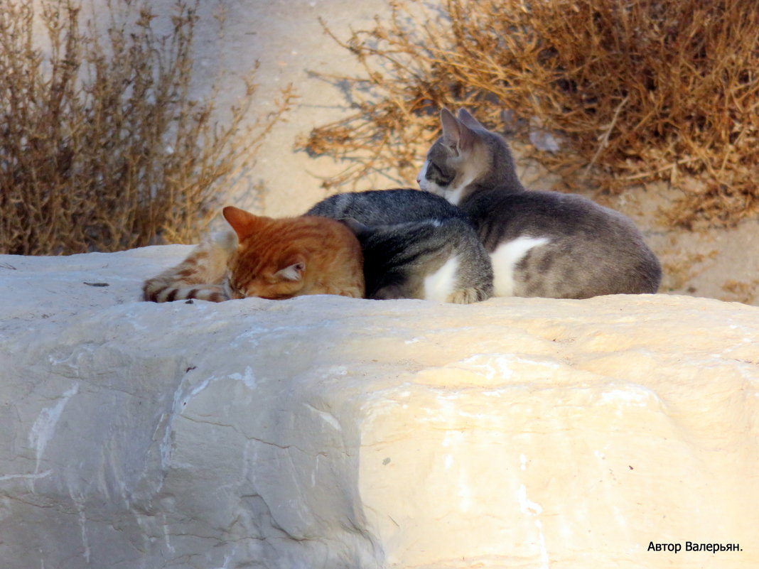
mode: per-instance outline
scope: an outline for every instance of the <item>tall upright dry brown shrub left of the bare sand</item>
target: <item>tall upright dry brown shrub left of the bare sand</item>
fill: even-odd
[[[150,2],[108,2],[105,32],[77,0],[0,5],[0,253],[67,254],[196,240],[219,186],[288,106],[242,127],[190,96],[197,3],[159,36]],[[35,36],[35,22],[46,37]],[[39,40],[39,41],[38,41]]]

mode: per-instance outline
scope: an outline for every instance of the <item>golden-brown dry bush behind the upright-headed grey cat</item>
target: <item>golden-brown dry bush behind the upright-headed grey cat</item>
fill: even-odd
[[[353,161],[328,187],[388,168],[412,180],[439,107],[466,106],[526,143],[556,134],[559,150],[534,156],[558,189],[670,181],[681,225],[759,210],[755,2],[448,0],[432,20],[417,6],[393,2],[389,21],[335,38],[366,74],[333,77],[356,110],[302,141]]]

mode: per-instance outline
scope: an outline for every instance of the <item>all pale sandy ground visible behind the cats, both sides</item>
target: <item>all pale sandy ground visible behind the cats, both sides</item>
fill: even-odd
[[[105,0],[95,0],[102,5]],[[156,0],[153,9],[169,14],[174,0]],[[436,2],[428,3],[434,7]],[[213,15],[226,13],[223,36]],[[209,93],[220,69],[219,108],[241,95],[241,76],[254,61],[260,62],[254,112],[260,116],[276,108],[282,87],[292,84],[299,99],[285,120],[276,125],[257,157],[230,188],[236,205],[266,215],[298,215],[326,195],[323,178],[345,165],[329,158],[312,158],[296,152],[299,136],[313,127],[337,120],[349,110],[349,99],[335,84],[318,74],[355,74],[361,70],[351,55],[323,32],[318,18],[342,39],[351,27],[372,24],[375,15],[386,17],[385,0],[221,0],[201,2],[197,30],[197,74],[194,92]],[[157,20],[160,21],[160,18]],[[471,109],[477,114],[476,109]],[[432,134],[430,134],[430,137]],[[251,141],[253,143],[254,141]],[[540,168],[524,167],[529,187],[550,187]],[[360,189],[397,185],[380,177],[367,178]],[[414,186],[413,180],[405,185]],[[759,304],[759,221],[736,228],[705,232],[672,230],[660,221],[657,210],[677,197],[677,190],[659,184],[631,190],[614,198],[595,199],[631,215],[644,231],[664,267],[662,292],[676,292]]]

